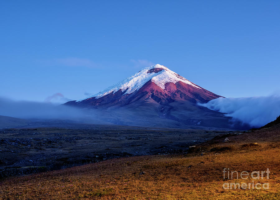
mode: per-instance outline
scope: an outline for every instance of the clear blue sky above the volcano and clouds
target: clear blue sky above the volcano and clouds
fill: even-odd
[[[218,95],[279,92],[280,1],[1,1],[0,96],[77,100],[165,65]]]

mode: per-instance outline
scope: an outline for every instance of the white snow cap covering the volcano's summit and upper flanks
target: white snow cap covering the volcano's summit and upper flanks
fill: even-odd
[[[95,97],[97,99],[104,95],[115,93],[120,89],[122,91],[126,91],[124,94],[130,94],[133,93],[134,91],[139,90],[149,80],[154,82],[157,86],[160,86],[162,89],[165,89],[165,84],[168,82],[176,83],[179,81],[194,86],[198,89],[202,89],[201,87],[195,85],[194,83],[190,82],[184,77],[181,77],[179,74],[171,71],[167,67],[160,64],[156,64],[150,67],[145,67],[141,71],[133,74],[131,77],[128,77],[123,81],[120,81],[114,84],[113,86],[110,86],[107,89],[100,91],[95,95],[92,95],[85,99],[77,100],[76,102],[86,100],[91,97]]]

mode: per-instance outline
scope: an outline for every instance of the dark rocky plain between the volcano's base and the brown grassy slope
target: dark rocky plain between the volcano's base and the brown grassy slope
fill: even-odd
[[[58,170],[119,157],[184,153],[189,146],[226,133],[111,125],[90,129],[2,129],[0,176]]]

